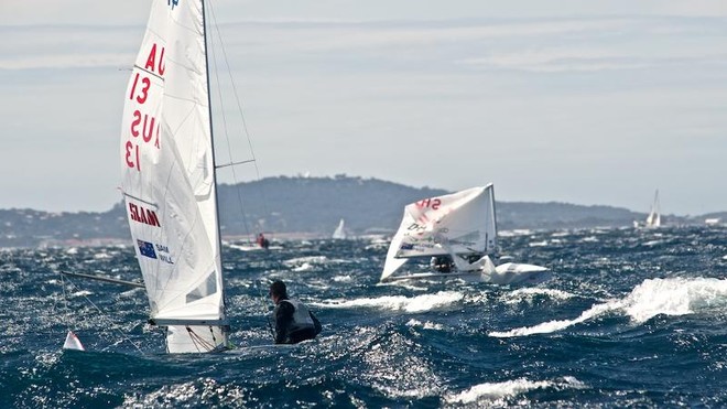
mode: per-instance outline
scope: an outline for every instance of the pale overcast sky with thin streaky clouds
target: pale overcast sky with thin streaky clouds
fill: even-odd
[[[121,200],[122,99],[149,4],[0,2],[0,208]],[[262,177],[493,182],[499,201],[639,212],[659,189],[668,214],[727,211],[727,1],[217,0],[211,12]]]

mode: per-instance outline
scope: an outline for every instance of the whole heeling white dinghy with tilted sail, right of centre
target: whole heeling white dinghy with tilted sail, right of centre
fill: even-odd
[[[495,266],[495,186],[473,187],[404,207],[380,281],[463,277],[499,284],[539,281],[546,268],[507,262]],[[412,259],[431,259],[433,272],[402,272]]]

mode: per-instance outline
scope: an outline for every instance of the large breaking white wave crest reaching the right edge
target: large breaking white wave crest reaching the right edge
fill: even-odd
[[[549,334],[610,312],[621,312],[640,324],[655,315],[684,315],[712,309],[727,309],[727,280],[714,278],[649,279],[621,300],[596,304],[574,320],[547,321],[534,326],[489,333],[496,337]]]

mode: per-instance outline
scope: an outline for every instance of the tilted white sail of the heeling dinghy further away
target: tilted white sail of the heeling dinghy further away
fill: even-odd
[[[495,186],[473,187],[404,207],[391,240],[381,280],[414,257],[486,255],[497,248]]]

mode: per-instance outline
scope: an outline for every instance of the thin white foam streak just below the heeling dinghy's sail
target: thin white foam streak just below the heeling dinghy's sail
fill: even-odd
[[[378,308],[381,310],[423,312],[441,309],[460,302],[464,295],[455,291],[440,291],[435,294],[423,294],[413,298],[404,295],[387,295],[379,298],[362,298],[356,300],[332,300],[313,305],[329,309]]]

